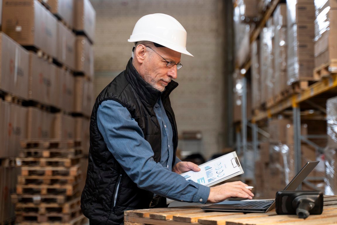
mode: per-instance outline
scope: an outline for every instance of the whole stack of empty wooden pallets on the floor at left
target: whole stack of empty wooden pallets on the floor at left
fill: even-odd
[[[81,141],[23,140],[16,159],[18,176],[15,204],[17,223],[83,224],[79,184]]]

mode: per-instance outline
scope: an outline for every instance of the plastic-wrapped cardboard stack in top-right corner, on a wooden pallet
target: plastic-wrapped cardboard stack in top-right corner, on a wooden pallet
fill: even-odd
[[[315,1],[315,67],[337,61],[337,2]]]

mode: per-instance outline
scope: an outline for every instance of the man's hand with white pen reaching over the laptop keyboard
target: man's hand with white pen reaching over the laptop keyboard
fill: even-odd
[[[249,189],[245,188],[247,186],[248,185],[241,181],[235,181],[212,187],[207,201],[217,203],[231,197],[252,199],[254,194]]]

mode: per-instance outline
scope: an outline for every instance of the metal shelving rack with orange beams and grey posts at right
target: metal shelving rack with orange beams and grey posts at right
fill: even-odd
[[[251,37],[250,37],[250,44],[252,44],[259,34],[261,33],[263,27],[266,24],[266,21],[270,18],[272,13],[274,12],[276,6],[280,0],[274,0],[272,1],[271,6],[267,9],[265,12],[262,20],[257,24],[256,28],[253,30]],[[245,165],[247,165],[247,149],[250,143],[247,142],[247,128],[250,127],[252,130],[252,142],[251,147],[254,151],[254,160],[258,157],[258,133],[269,137],[269,134],[261,129],[259,129],[257,123],[261,121],[269,121],[272,116],[277,115],[285,110],[292,109],[292,116],[293,116],[293,125],[294,125],[294,151],[295,151],[295,169],[296,172],[299,172],[302,168],[302,162],[301,162],[301,142],[304,141],[316,149],[321,148],[317,146],[312,141],[308,140],[310,138],[327,138],[326,135],[301,135],[301,103],[307,103],[312,108],[318,109],[319,111],[322,111],[326,113],[326,110],[324,107],[319,106],[311,102],[310,100],[313,100],[315,97],[324,95],[324,93],[328,93],[330,91],[335,91],[337,93],[337,74],[331,73],[329,76],[321,78],[320,81],[317,81],[316,83],[310,85],[307,89],[290,95],[280,103],[276,104],[275,106],[272,106],[268,108],[266,111],[258,112],[256,115],[253,115],[251,118],[251,121],[247,118],[247,77],[246,73],[248,69],[251,66],[250,59],[247,59],[247,62],[241,67],[240,72],[242,75],[242,88],[243,88],[243,95],[242,95],[242,121],[241,121],[241,131],[240,129],[236,129],[236,148],[239,153],[242,153],[244,157],[243,161],[243,167],[245,168]],[[336,94],[337,95],[337,94]],[[331,95],[329,97],[332,97]],[[329,97],[326,97],[325,99],[328,99]],[[242,152],[241,152],[242,150]],[[308,181],[305,181],[308,185],[310,183]],[[299,187],[301,188],[301,187]]]

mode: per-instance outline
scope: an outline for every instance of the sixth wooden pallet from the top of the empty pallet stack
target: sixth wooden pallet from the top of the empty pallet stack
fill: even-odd
[[[78,184],[53,184],[53,185],[17,185],[17,194],[36,195],[67,195],[72,196],[78,191]]]

